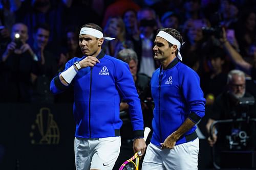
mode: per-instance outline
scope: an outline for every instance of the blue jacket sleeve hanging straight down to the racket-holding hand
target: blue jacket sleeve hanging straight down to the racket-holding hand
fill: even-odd
[[[144,135],[142,110],[139,95],[129,66],[124,62],[120,62],[120,64],[118,63],[118,65],[116,65],[115,75],[117,89],[122,95],[122,99],[129,105],[134,136],[136,138],[142,138]]]

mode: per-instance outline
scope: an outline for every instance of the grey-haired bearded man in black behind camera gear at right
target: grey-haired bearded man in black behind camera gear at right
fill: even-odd
[[[240,101],[244,99],[253,99],[251,94],[246,92],[245,74],[240,70],[231,70],[228,73],[227,78],[228,90],[220,94],[212,106],[210,118],[206,125],[206,129],[209,132],[210,126],[215,120],[223,119],[236,119],[236,118],[252,118],[256,117],[255,104],[254,105],[241,105]],[[226,126],[225,126],[226,125]],[[243,149],[243,150],[255,150],[255,124],[248,123],[231,123],[218,126],[218,137],[216,133],[212,134],[212,137],[208,137],[208,143],[211,147],[217,144],[219,150],[226,149]],[[245,141],[239,143],[241,145],[230,145],[232,142],[228,142],[227,137],[233,134],[234,130],[244,131],[249,137]],[[217,142],[218,138],[218,142]],[[230,138],[229,138],[230,140]],[[242,140],[241,140],[242,141]]]

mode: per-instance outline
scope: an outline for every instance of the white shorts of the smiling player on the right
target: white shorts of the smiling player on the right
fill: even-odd
[[[142,170],[196,170],[198,169],[199,139],[176,145],[173,149],[161,149],[148,144]]]

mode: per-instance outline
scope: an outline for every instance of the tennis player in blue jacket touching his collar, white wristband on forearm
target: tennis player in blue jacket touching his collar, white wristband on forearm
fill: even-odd
[[[111,170],[120,152],[120,98],[129,104],[135,134],[134,152],[145,152],[143,119],[138,93],[129,66],[105,55],[102,29],[94,23],[83,25],[79,35],[81,58],[66,63],[65,70],[51,81],[56,94],[74,85],[73,115],[75,164],[77,170]]]

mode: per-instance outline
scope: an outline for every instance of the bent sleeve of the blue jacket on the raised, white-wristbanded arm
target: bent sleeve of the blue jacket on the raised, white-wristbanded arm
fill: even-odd
[[[63,71],[66,71],[69,67],[71,67],[74,63],[74,59],[69,60],[66,65],[65,65],[65,69]],[[62,72],[63,72],[62,71]],[[51,81],[50,84],[50,91],[53,94],[58,94],[61,93],[63,91],[65,91],[66,89],[68,89],[70,87],[70,84],[68,86],[64,85],[63,83],[61,83],[60,79],[59,79],[59,75],[61,74],[61,72],[59,72],[59,74],[54,77]]]

